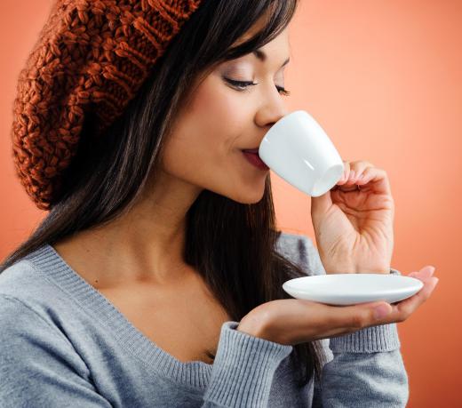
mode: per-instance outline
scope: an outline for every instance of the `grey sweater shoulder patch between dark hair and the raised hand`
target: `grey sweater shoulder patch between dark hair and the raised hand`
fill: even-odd
[[[319,253],[309,236],[281,231],[276,242],[276,251],[297,263],[307,271],[307,275],[325,275]]]

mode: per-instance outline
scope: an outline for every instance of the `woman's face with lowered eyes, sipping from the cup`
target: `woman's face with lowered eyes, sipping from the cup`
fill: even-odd
[[[287,114],[283,101],[283,63],[290,55],[287,28],[260,52],[265,60],[251,53],[226,61],[192,85],[190,103],[176,117],[165,145],[163,172],[239,203],[259,202],[269,170],[251,164],[243,149],[259,148],[268,129]]]

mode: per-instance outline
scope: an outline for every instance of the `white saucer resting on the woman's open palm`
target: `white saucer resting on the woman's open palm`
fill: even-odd
[[[382,274],[332,274],[302,276],[283,284],[297,299],[329,305],[354,305],[385,300],[394,303],[417,293],[424,286],[415,277]]]

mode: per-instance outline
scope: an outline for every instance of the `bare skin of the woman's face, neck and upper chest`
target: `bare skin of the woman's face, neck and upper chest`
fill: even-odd
[[[281,66],[290,55],[287,30],[260,50],[267,60],[244,55],[195,84],[168,140],[161,175],[131,212],[53,245],[131,324],[182,362],[211,364],[221,324],[232,320],[182,260],[187,210],[203,188],[240,203],[259,202],[267,171],[241,150],[258,147],[288,113],[276,89],[284,86]],[[223,76],[257,84],[243,92]]]

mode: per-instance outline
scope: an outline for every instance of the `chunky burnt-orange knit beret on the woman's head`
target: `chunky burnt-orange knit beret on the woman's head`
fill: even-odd
[[[76,154],[84,116],[97,133],[135,96],[202,0],[56,0],[20,72],[13,161],[36,206],[49,210]]]

